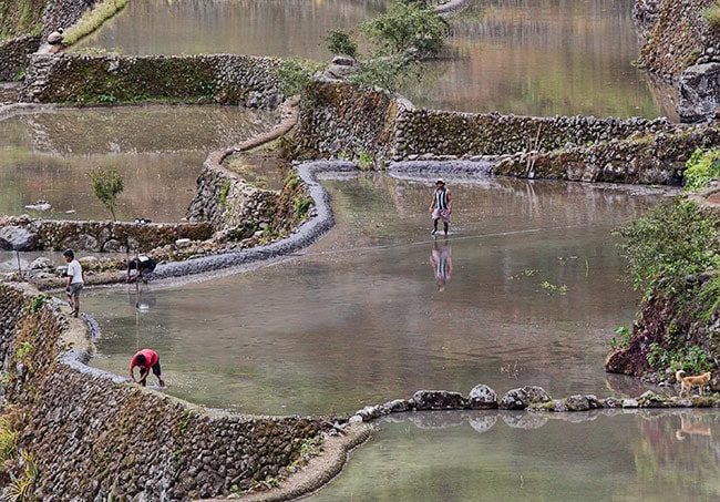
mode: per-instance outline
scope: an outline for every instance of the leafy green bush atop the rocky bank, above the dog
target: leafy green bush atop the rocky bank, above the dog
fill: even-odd
[[[720,236],[713,221],[683,197],[664,204],[616,229],[625,239],[621,254],[628,277],[645,297],[651,293],[678,293],[686,279],[717,266]]]

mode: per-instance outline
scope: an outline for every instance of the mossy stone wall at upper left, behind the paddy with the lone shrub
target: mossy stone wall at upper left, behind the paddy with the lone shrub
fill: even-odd
[[[42,103],[189,102],[275,110],[279,60],[236,54],[33,54],[21,100]]]

